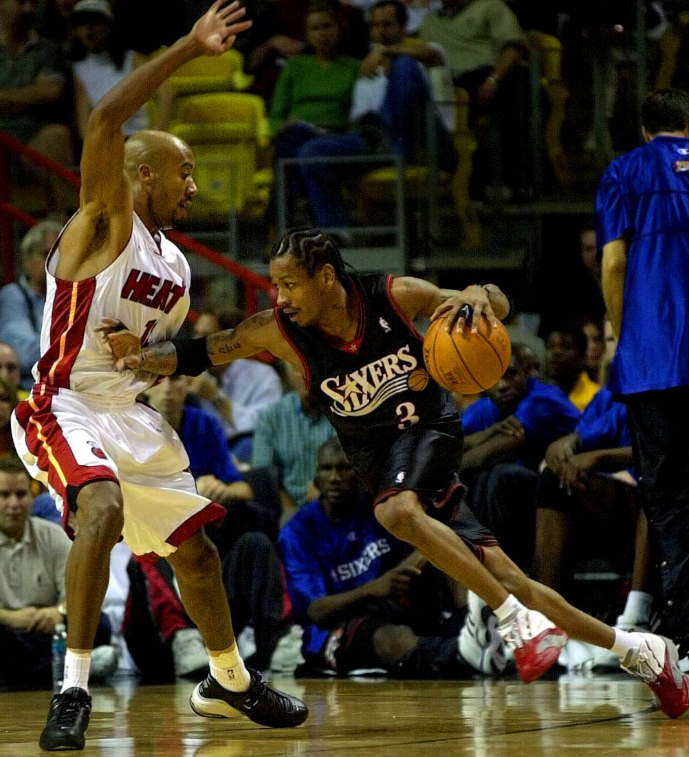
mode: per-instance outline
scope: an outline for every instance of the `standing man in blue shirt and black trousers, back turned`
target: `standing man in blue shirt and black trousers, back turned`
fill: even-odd
[[[689,95],[653,92],[646,144],[600,179],[603,297],[619,344],[610,390],[625,398],[659,565],[663,633],[689,640]]]

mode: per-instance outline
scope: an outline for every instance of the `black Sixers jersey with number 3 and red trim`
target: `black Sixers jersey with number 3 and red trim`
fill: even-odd
[[[275,311],[301,358],[311,396],[357,469],[365,450],[388,447],[414,425],[457,412],[451,395],[426,371],[422,337],[394,302],[392,280],[379,274],[352,278],[360,318],[348,344]]]

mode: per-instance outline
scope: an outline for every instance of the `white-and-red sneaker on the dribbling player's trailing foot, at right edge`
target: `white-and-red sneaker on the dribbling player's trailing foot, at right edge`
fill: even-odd
[[[669,718],[684,715],[689,709],[689,676],[679,669],[677,647],[664,636],[631,635],[638,637],[639,646],[625,655],[622,669],[647,684]]]

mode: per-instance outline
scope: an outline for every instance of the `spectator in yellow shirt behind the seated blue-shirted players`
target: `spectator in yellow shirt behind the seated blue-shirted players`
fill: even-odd
[[[586,372],[587,348],[581,327],[569,324],[554,326],[545,341],[545,375],[562,389],[577,410],[584,410],[600,389],[600,384]]]

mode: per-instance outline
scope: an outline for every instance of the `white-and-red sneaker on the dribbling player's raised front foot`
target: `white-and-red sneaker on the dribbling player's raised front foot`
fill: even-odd
[[[557,662],[567,642],[567,634],[537,610],[516,609],[500,625],[497,633],[514,651],[519,678],[530,684]]]

